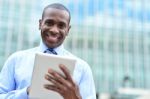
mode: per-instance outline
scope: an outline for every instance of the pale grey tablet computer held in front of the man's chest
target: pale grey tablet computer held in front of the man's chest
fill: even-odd
[[[44,88],[44,84],[50,83],[45,79],[48,68],[59,73],[63,72],[59,68],[59,64],[65,65],[73,75],[76,60],[70,57],[58,56],[46,53],[36,53],[34,61],[34,69],[30,86],[30,99],[63,99],[63,97],[54,91]]]

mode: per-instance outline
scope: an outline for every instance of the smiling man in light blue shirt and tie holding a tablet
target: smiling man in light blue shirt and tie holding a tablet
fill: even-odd
[[[36,48],[14,53],[5,62],[0,74],[0,99],[28,99],[36,52],[54,53],[77,60],[73,77],[63,64],[59,67],[65,77],[49,69],[45,79],[53,85],[46,84],[44,88],[58,92],[64,99],[96,99],[90,67],[65,50],[62,44],[71,28],[70,19],[69,10],[62,4],[45,7],[39,20],[42,41]]]

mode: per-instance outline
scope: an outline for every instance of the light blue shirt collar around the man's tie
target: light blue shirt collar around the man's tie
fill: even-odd
[[[48,47],[41,40],[40,45],[39,45],[39,51],[44,52],[47,49],[48,49]],[[54,48],[54,50],[57,52],[57,54],[60,54],[63,51],[63,49],[64,49],[63,44],[61,44],[60,46]]]

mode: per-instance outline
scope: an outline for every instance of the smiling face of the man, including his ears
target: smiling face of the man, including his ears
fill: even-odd
[[[48,48],[58,47],[68,35],[69,13],[65,10],[47,8],[42,20],[39,20],[41,37]]]

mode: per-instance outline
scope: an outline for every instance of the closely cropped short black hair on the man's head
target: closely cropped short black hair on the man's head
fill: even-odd
[[[65,11],[67,11],[68,14],[69,14],[69,23],[70,23],[70,20],[71,20],[70,11],[69,11],[69,9],[68,9],[67,7],[65,7],[63,4],[60,4],[60,3],[53,3],[53,4],[47,5],[47,6],[44,8],[44,10],[43,10],[42,19],[43,19],[43,17],[44,17],[44,13],[45,13],[46,9],[48,9],[48,8],[55,8],[55,9],[60,9],[60,10],[65,10]]]

